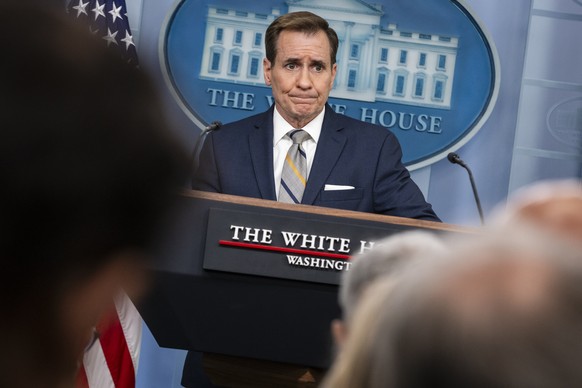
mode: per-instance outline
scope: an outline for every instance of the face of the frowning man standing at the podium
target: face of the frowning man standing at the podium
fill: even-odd
[[[295,128],[313,120],[327,102],[333,86],[336,64],[323,31],[307,35],[283,31],[277,41],[275,63],[263,61],[265,83],[273,89],[275,106]]]

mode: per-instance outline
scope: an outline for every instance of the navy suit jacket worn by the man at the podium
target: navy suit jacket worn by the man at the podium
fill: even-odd
[[[200,153],[196,190],[276,200],[273,109],[211,132]],[[410,179],[389,130],[326,107],[301,203],[440,221]],[[353,190],[325,191],[326,184]]]

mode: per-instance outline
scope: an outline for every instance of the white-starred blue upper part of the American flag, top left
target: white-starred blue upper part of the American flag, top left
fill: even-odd
[[[71,0],[69,14],[87,24],[92,34],[102,38],[132,65],[137,66],[137,51],[129,28],[125,0]]]

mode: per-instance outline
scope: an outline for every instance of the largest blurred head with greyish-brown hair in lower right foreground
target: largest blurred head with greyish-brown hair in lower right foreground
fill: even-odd
[[[582,386],[582,254],[485,238],[371,286],[325,388]]]

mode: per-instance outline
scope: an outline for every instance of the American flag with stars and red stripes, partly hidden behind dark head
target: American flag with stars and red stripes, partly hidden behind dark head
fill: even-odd
[[[125,0],[71,0],[68,13],[116,50],[129,66],[137,66],[137,51]],[[86,351],[77,388],[135,388],[141,350],[142,320],[131,300],[121,293],[96,327],[98,339]]]

